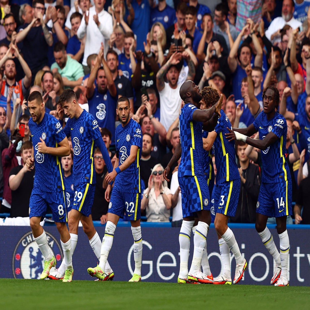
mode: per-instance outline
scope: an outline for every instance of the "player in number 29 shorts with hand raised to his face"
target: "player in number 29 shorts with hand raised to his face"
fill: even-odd
[[[60,95],[58,103],[57,113],[61,122],[64,119],[64,114],[69,117],[63,131],[67,137],[71,136],[73,146],[73,180],[75,193],[68,221],[72,253],[78,242],[78,223],[81,220],[83,230],[89,239],[89,244],[99,259],[101,240],[91,218],[91,206],[94,200],[96,183],[94,165],[95,145],[100,148],[108,171],[112,171],[113,167],[95,117],[80,107],[74,91],[72,89],[66,89]],[[53,273],[50,278],[61,279],[64,276],[63,263],[58,268],[57,273]],[[109,280],[114,277],[114,273],[108,262],[105,266],[105,272],[106,275],[103,277],[103,280]]]

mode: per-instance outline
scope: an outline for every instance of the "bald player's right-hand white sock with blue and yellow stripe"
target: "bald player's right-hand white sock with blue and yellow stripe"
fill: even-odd
[[[198,222],[196,232],[194,235],[194,254],[193,261],[189,273],[196,274],[200,270],[201,258],[206,246],[206,234],[209,225],[207,223]]]

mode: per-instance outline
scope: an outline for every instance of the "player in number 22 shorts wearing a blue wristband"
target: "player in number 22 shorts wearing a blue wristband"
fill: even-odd
[[[109,201],[108,221],[102,240],[100,262],[95,268],[88,268],[87,272],[98,279],[104,277],[104,265],[113,243],[113,236],[119,218],[130,220],[134,237],[135,270],[129,282],[141,281],[142,264],[142,235],[140,226],[141,186],[140,160],[142,150],[142,132],[140,125],[130,117],[129,99],[120,97],[117,100],[116,113],[121,121],[115,130],[116,161],[114,169],[105,177],[109,184],[105,199]],[[110,182],[115,179],[112,186]]]

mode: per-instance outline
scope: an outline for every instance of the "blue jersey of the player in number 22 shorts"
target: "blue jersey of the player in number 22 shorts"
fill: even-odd
[[[118,166],[130,155],[131,145],[138,146],[136,160],[115,178],[114,187],[120,192],[141,193],[140,160],[142,151],[142,131],[140,125],[130,119],[123,127],[119,124],[115,130],[115,147],[118,156]]]

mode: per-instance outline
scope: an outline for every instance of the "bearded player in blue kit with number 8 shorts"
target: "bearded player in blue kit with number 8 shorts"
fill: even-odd
[[[26,165],[29,169],[34,164],[36,167],[29,201],[29,217],[34,240],[45,259],[41,279],[45,279],[50,269],[56,265],[54,254],[47,243],[46,233],[40,225],[41,216],[45,216],[47,207],[50,206],[64,251],[63,281],[71,282],[73,276],[71,239],[66,226],[66,197],[59,158],[70,153],[70,146],[60,122],[51,114],[45,113],[43,98],[38,91],[33,91],[29,95],[28,108],[32,117],[29,119],[29,130],[33,150]]]

